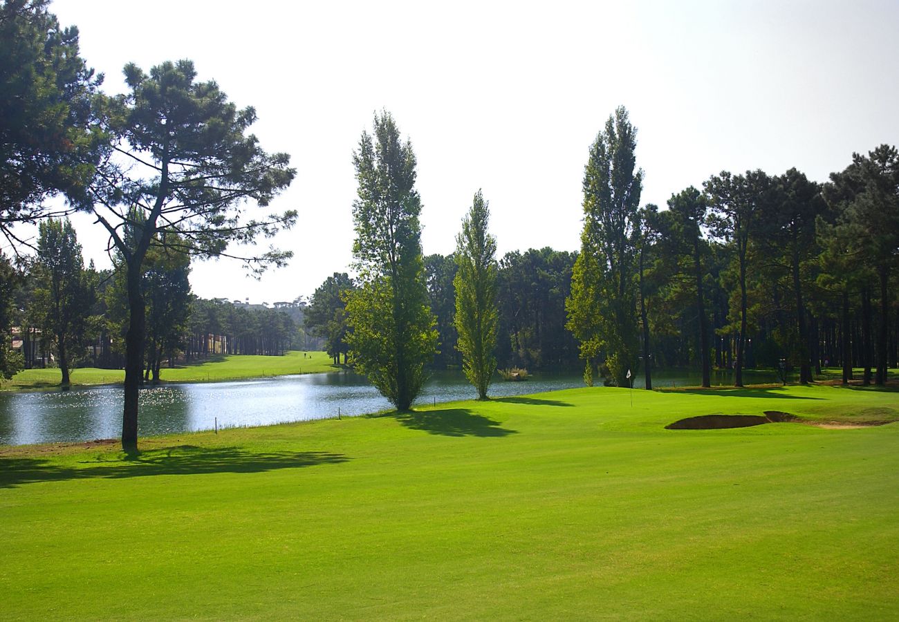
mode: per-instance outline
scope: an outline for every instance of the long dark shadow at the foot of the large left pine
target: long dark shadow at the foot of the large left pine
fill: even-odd
[[[120,479],[148,475],[263,473],[281,468],[315,467],[346,462],[326,451],[254,452],[236,447],[203,449],[181,445],[138,454],[101,455],[78,467],[52,464],[45,458],[0,458],[0,488],[73,479]]]

